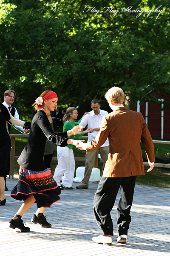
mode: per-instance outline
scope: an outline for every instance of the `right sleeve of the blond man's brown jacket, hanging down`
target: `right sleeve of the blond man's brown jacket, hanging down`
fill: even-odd
[[[142,127],[141,142],[144,145],[148,162],[153,163],[155,162],[153,140],[143,116],[142,116],[142,122],[143,122],[143,127]]]

